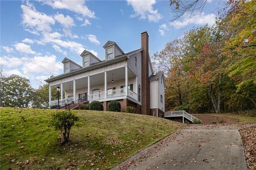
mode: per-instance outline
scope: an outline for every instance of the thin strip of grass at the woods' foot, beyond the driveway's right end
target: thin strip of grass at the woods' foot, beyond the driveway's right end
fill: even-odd
[[[239,120],[239,123],[256,123],[256,117],[245,116],[242,114],[222,113],[222,114],[211,114],[211,115],[227,117],[227,118],[236,118]]]

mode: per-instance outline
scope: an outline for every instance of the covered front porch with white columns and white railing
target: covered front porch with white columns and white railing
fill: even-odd
[[[83,103],[84,101],[109,101],[129,98],[140,102],[138,76],[128,66],[104,71],[98,74],[61,82],[49,87],[49,106],[58,105],[58,99],[51,100],[52,88],[60,88],[59,105]],[[140,91],[140,88],[139,88]]]

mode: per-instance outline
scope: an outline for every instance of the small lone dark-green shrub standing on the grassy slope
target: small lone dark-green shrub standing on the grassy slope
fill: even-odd
[[[62,133],[61,145],[68,142],[70,129],[73,125],[77,125],[79,120],[78,116],[70,111],[57,112],[52,115],[51,125],[55,130],[59,130]]]

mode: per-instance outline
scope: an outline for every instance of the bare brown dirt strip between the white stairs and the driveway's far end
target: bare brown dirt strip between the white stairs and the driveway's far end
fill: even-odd
[[[235,124],[239,122],[239,120],[235,118],[213,116],[210,114],[195,114],[194,116],[199,118],[199,120],[201,120],[203,124],[212,124],[212,123]]]

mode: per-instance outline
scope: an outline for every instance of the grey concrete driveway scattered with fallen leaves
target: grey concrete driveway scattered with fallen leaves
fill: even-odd
[[[235,125],[191,125],[113,169],[247,169]]]

